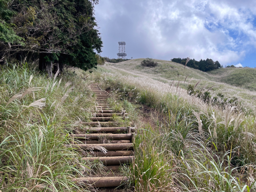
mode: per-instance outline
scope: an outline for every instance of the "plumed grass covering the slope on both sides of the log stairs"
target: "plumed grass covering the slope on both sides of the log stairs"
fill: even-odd
[[[186,67],[183,74],[177,63],[156,60],[159,65],[150,68],[140,61],[106,63],[93,73],[75,69],[53,79],[28,64],[2,67],[0,190],[95,191],[77,187],[72,178],[104,176],[103,164],[82,161],[64,144],[95,113],[87,86],[97,82],[110,91],[113,110],[129,114],[113,125],[136,128],[135,163],[119,171],[131,181],[121,190],[256,191],[255,91],[215,81],[218,73],[227,77],[223,69],[207,74]],[[207,102],[188,94],[188,84],[199,80],[198,90],[215,85]],[[225,97],[214,102],[218,92]]]

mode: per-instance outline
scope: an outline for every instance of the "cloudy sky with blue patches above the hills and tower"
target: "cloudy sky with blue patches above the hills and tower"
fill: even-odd
[[[256,0],[100,0],[101,56],[170,60],[211,58],[256,67]]]

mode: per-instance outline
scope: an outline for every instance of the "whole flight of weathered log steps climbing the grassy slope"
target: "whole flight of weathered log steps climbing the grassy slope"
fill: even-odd
[[[109,94],[101,90],[98,84],[91,84],[89,88],[96,95],[96,111],[91,122],[83,122],[86,125],[86,133],[72,134],[71,145],[80,151],[83,160],[93,162],[98,160],[106,166],[106,170],[116,172],[120,166],[126,166],[133,162],[134,127],[111,127],[112,117],[125,118],[127,113],[122,110],[115,113],[106,99]],[[97,126],[97,127],[95,127]],[[103,127],[101,127],[103,126]],[[106,127],[108,126],[108,127]],[[102,148],[107,151],[102,151]],[[118,187],[128,181],[128,177],[81,177],[74,179],[82,187]]]

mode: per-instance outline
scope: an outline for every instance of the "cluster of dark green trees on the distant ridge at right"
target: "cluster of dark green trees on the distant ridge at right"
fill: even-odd
[[[187,58],[173,58],[171,61],[175,63],[180,63],[182,65],[185,65]],[[211,71],[213,69],[222,68],[223,66],[220,65],[219,61],[213,61],[212,59],[201,59],[200,61],[196,61],[195,59],[191,59],[187,65],[188,67],[199,69],[201,71]]]

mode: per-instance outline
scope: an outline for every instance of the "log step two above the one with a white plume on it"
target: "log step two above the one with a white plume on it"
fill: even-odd
[[[102,128],[102,127],[100,127]],[[111,127],[114,128],[114,127]],[[127,128],[125,127],[125,130]],[[73,134],[75,139],[97,140],[99,137],[106,137],[108,139],[131,139],[131,134],[107,134],[107,133],[93,133],[93,134]]]

